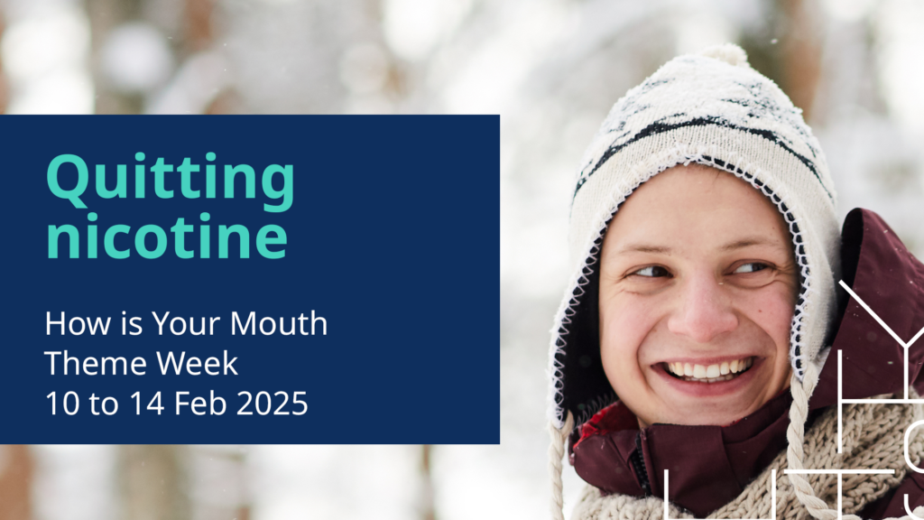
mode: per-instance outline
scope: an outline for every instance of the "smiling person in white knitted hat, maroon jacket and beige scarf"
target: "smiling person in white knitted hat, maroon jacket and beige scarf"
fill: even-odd
[[[924,505],[905,459],[920,404],[895,333],[924,328],[924,265],[880,217],[836,221],[799,110],[735,45],[668,62],[613,107],[571,211],[571,283],[550,355],[553,517],[567,454],[588,482],[574,518],[884,518]],[[909,396],[924,349],[912,349]],[[924,428],[908,459],[920,464]],[[565,452],[566,448],[566,452]],[[665,481],[665,470],[668,481]],[[907,497],[907,499],[906,499]],[[916,511],[924,516],[924,510]]]

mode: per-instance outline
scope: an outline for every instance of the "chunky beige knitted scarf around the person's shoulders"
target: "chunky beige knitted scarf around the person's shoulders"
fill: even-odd
[[[888,397],[888,396],[883,396]],[[902,396],[896,395],[896,399]],[[917,398],[914,396],[912,398]],[[802,462],[809,469],[894,469],[894,475],[844,475],[843,513],[857,514],[867,504],[881,498],[905,478],[909,471],[905,463],[905,430],[921,420],[924,411],[919,404],[848,404],[844,407],[844,452],[837,453],[837,410],[830,407],[808,430],[802,443]],[[916,428],[908,442],[908,457],[919,464],[924,455],[924,427]],[[771,470],[776,470],[777,518],[808,519],[837,518],[832,506],[815,502],[809,514],[794,489],[794,482],[784,475],[787,452],[781,452],[759,477],[734,500],[725,504],[709,518],[769,518]],[[837,504],[837,476],[812,475],[808,484],[811,498],[827,504]],[[798,478],[798,477],[796,477]],[[819,507],[820,506],[820,507]],[[575,506],[572,520],[661,520],[663,501],[659,498],[634,498],[626,495],[601,496],[600,489],[588,486]],[[915,511],[924,516],[924,508]],[[670,505],[671,518],[693,516]],[[857,518],[854,516],[853,518]]]

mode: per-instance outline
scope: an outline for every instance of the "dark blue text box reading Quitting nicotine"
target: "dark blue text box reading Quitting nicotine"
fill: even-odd
[[[0,442],[499,442],[499,127],[496,116],[0,119]],[[60,155],[87,167],[79,202],[72,158],[55,176],[69,200],[49,188]],[[98,165],[112,198],[97,191]],[[225,166],[240,165],[253,168],[252,198],[246,168],[226,198]],[[286,188],[291,206],[266,210],[285,204]],[[258,244],[266,226],[285,244],[278,232]],[[221,227],[232,230],[227,258]],[[235,312],[243,323],[254,313],[244,335],[232,335]],[[48,323],[61,313],[64,335]],[[106,334],[91,334],[97,318],[109,318]],[[162,375],[168,353],[185,356],[180,375],[173,365]],[[177,401],[188,403],[179,415]]]

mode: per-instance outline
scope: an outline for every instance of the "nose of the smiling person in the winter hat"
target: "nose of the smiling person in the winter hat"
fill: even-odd
[[[667,322],[671,332],[708,343],[738,326],[730,295],[713,273],[690,276],[677,289],[679,301]]]

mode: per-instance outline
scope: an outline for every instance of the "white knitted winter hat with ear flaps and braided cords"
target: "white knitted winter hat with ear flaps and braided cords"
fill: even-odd
[[[575,425],[616,399],[603,372],[598,337],[596,263],[603,236],[620,204],[641,183],[689,163],[748,181],[789,225],[801,282],[790,335],[792,386],[800,406],[807,405],[817,382],[816,365],[836,311],[840,237],[821,147],[801,110],[750,68],[736,45],[676,57],[616,102],[578,169],[569,235],[573,269],[555,316],[549,356],[550,464],[553,511],[559,518],[565,440]]]

